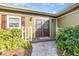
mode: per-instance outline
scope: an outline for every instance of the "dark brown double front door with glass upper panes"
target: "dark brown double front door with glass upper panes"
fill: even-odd
[[[49,37],[49,20],[36,20],[36,37]]]

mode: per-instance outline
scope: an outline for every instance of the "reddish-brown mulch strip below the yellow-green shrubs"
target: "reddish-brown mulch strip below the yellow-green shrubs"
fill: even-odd
[[[31,56],[32,47],[29,49],[17,48],[16,50],[5,50],[1,51],[1,56]]]

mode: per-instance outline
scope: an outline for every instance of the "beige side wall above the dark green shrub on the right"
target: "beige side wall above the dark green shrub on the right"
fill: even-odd
[[[59,28],[79,25],[79,10],[63,15],[58,18]]]

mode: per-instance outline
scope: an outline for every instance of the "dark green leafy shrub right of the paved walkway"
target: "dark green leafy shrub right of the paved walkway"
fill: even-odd
[[[79,26],[59,29],[56,42],[62,55],[79,55]]]

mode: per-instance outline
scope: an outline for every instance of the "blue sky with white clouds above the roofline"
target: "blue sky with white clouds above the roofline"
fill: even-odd
[[[56,14],[71,5],[71,3],[2,3],[20,8],[28,8],[36,11]]]

